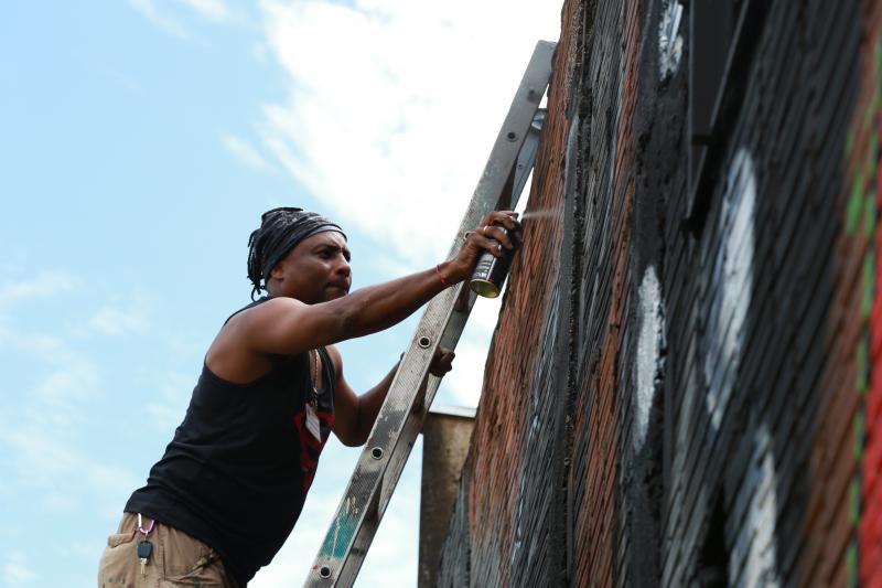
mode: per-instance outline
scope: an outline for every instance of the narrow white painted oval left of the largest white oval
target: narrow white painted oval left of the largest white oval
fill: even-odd
[[[646,442],[646,430],[649,426],[649,411],[658,376],[665,327],[662,313],[662,288],[655,266],[649,266],[644,271],[638,298],[635,360],[637,382],[634,386],[634,434],[632,436],[635,453],[639,452]]]

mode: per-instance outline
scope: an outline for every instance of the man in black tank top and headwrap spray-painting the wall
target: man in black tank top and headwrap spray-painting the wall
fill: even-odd
[[[367,440],[392,377],[358,396],[334,343],[387,329],[466,279],[480,255],[514,247],[512,212],[492,212],[455,258],[348,293],[340,226],[300,209],[262,215],[248,242],[251,299],[222,327],[186,415],[107,542],[98,584],[245,588],[300,515],[331,431]],[[439,350],[430,371],[450,371]]]

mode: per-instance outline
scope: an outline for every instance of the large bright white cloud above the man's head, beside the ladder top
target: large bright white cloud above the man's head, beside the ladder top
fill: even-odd
[[[263,0],[289,97],[259,131],[347,225],[411,263],[445,255],[515,88],[559,7]]]

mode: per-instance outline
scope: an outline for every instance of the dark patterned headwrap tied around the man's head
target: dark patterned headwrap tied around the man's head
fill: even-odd
[[[306,237],[325,231],[345,234],[336,224],[314,212],[282,206],[260,216],[260,228],[248,237],[248,279],[254,285],[251,300],[267,290],[267,280],[276,264]]]

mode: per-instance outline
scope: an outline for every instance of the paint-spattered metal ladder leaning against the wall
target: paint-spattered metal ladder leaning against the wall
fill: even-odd
[[[555,46],[555,43],[539,41],[534,50],[453,238],[450,257],[459,252],[463,233],[474,228],[488,212],[501,205],[514,209],[517,204],[538,150],[545,114],[539,110],[539,103],[551,77]],[[510,194],[507,186],[512,186]],[[432,356],[439,345],[456,346],[472,311],[474,293],[469,292],[467,303],[456,303],[463,288],[469,285],[462,282],[448,288],[426,308],[304,586],[352,586],[355,582],[422,428],[427,408],[438,391],[440,378],[429,374]],[[421,385],[427,379],[424,395],[420,397]]]

